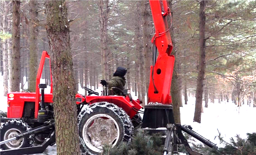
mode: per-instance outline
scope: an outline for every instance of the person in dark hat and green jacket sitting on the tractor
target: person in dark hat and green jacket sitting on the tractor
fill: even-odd
[[[108,87],[109,90],[112,87],[117,87],[120,90],[124,90],[124,86],[126,83],[125,74],[127,73],[127,69],[123,67],[117,67],[115,70],[115,73],[113,73],[113,77],[110,79],[110,81],[101,80],[101,83],[103,86]],[[121,95],[121,92],[118,89],[114,89],[113,93],[114,95]]]

